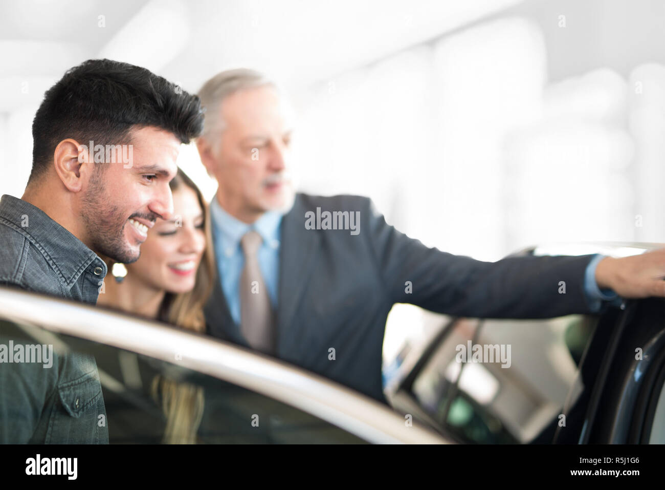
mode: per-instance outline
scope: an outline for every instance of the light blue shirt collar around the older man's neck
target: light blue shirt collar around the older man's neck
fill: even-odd
[[[256,222],[247,224],[226,212],[219,205],[217,194],[215,194],[210,203],[210,215],[215,234],[221,239],[221,246],[227,255],[235,252],[240,244],[240,239],[249,230],[256,230],[267,246],[279,247],[279,228],[283,217],[283,213],[280,211],[265,212]]]

